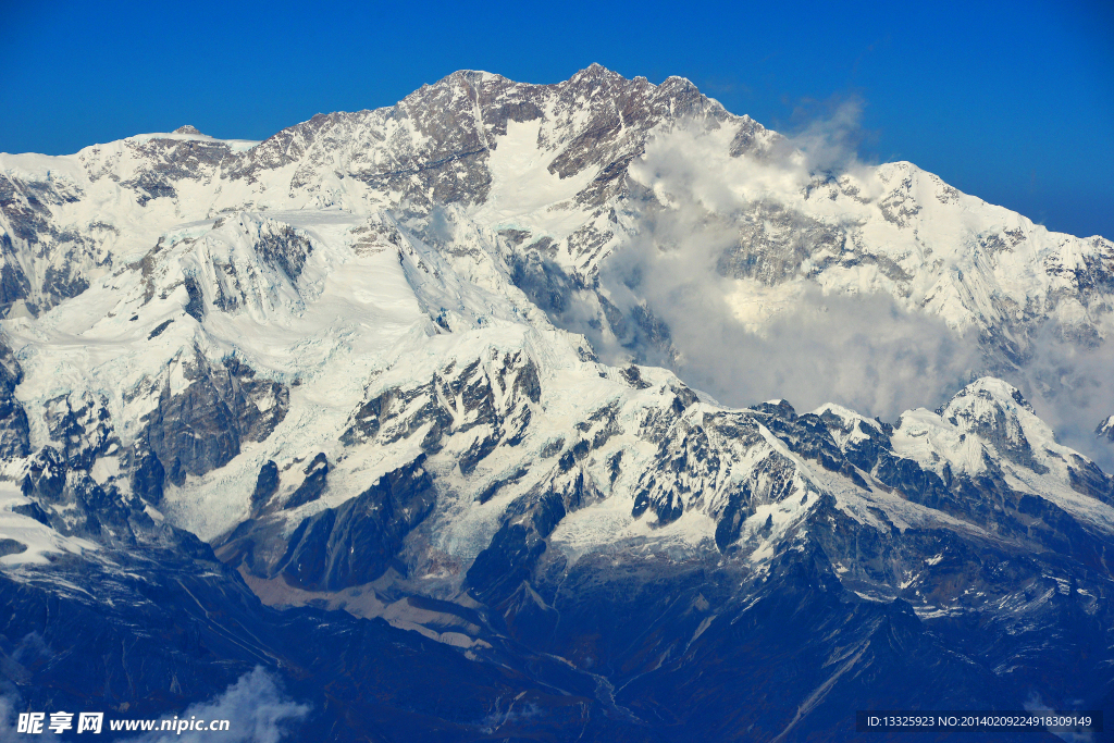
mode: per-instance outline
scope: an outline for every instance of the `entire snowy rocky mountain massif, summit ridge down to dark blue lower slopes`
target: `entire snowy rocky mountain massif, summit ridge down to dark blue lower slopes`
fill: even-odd
[[[647,250],[704,256],[755,333],[887,296],[977,373],[891,422],[721,404],[647,363],[685,353],[616,268]],[[1114,711],[1114,478],[999,379],[1049,327],[1102,346],[1114,243],[682,78],[461,71],[261,143],[0,155],[0,309],[12,720],[260,678],[306,741]]]

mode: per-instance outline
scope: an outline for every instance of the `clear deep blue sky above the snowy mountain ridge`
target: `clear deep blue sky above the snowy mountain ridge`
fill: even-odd
[[[457,69],[556,82],[598,61],[783,131],[858,98],[867,158],[1114,238],[1114,4],[901,4],[0,0],[0,150],[186,123],[262,139]]]

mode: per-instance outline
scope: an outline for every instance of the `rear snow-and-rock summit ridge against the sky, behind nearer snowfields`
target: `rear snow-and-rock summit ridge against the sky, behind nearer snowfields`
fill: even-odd
[[[35,315],[175,228],[329,207],[391,209],[423,231],[449,207],[519,260],[590,285],[641,219],[691,204],[732,233],[721,268],[741,292],[804,281],[883,291],[1015,354],[1047,317],[1079,336],[1105,332],[1110,241],[1049,233],[910,163],[840,173],[793,144],[682,78],[653,86],[593,66],[551,86],[457,72],[395,106],[319,115],[263,143],[183,127],[72,156],[4,155],[2,299]]]

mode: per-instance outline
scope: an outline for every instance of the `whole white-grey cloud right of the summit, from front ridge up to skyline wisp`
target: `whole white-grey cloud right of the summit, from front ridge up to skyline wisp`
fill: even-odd
[[[810,231],[824,225],[784,199],[818,178],[870,180],[857,155],[861,110],[857,99],[832,105],[799,134],[725,166],[722,133],[681,129],[651,143],[633,175],[653,196],[637,235],[603,266],[600,286],[628,316],[645,310],[664,322],[668,344],[635,334],[620,345],[578,330],[610,361],[670,365],[729,404],[838,402],[890,419],[940,404],[981,365],[977,345],[942,321],[889,295],[824,295],[807,283],[739,278],[724,266],[742,223],[776,218],[786,242],[763,248],[761,260],[772,273],[797,276],[794,252],[807,254]]]

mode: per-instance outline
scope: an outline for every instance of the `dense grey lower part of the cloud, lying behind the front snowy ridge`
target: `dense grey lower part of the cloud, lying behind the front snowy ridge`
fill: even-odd
[[[937,407],[981,363],[969,339],[888,295],[824,296],[809,287],[783,295],[788,306],[771,309],[755,327],[733,306],[737,282],[710,258],[632,250],[608,276],[605,285],[626,295],[628,310],[642,300],[667,325],[672,353],[642,340],[633,348],[602,343],[604,355],[618,363],[634,353],[672,366],[725,404],[784,398],[809,410],[837,402],[892,420],[909,408]],[[637,283],[632,290],[616,276]]]

